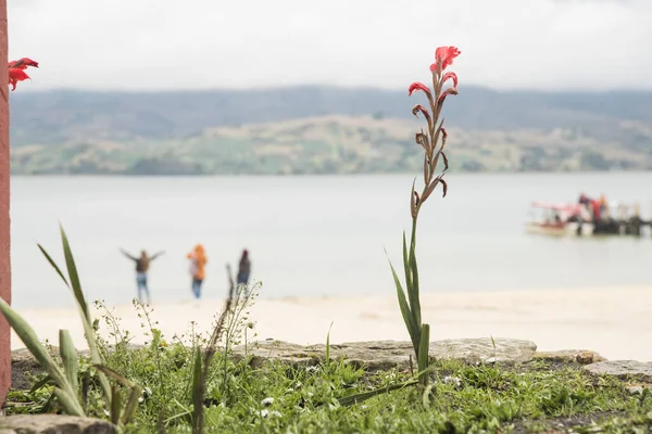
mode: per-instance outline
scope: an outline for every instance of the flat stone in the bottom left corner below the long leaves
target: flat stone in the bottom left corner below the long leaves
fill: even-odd
[[[59,414],[0,417],[0,434],[116,434],[114,425],[99,419]]]

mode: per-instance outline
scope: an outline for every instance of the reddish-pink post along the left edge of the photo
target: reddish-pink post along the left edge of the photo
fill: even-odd
[[[7,0],[0,0],[0,297],[11,303],[9,224],[9,72],[7,44]],[[0,406],[11,386],[11,333],[0,315]]]

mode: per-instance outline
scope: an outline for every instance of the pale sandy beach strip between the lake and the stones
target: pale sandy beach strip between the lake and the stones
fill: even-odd
[[[210,330],[222,306],[216,299],[154,303],[152,318],[171,341],[175,334]],[[609,359],[652,360],[652,288],[427,293],[422,306],[432,341],[492,335],[531,340],[540,350],[592,349]],[[147,340],[134,306],[113,309],[134,342]],[[57,345],[59,329],[67,329],[77,347],[86,347],[76,309],[18,311],[39,339]],[[258,299],[250,320],[255,339],[297,344],[324,343],[331,322],[333,343],[409,337],[392,296]],[[104,323],[101,328],[105,333]],[[13,335],[12,348],[22,347]]]

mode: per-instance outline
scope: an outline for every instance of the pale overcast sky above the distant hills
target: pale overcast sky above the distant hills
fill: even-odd
[[[8,0],[21,90],[406,88],[438,46],[465,84],[652,89],[652,0]]]

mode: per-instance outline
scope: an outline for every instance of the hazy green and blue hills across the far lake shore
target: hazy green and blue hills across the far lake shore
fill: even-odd
[[[460,146],[466,146],[469,151],[468,163],[459,169],[652,168],[650,91],[493,91],[462,86],[460,92],[459,97],[447,100],[443,112],[447,125],[460,129],[459,136],[466,135],[469,140],[491,142],[494,149],[511,150],[511,159],[507,159],[512,163],[497,165],[491,155],[494,151],[480,151],[484,144],[468,142],[460,143]],[[424,101],[423,95],[408,97],[406,89],[388,91],[329,87],[168,92],[57,90],[12,92],[10,97],[12,170],[24,174],[405,170],[418,163],[410,153],[405,154],[408,159],[403,163],[400,158],[389,158],[372,164],[364,158],[371,158],[374,152],[360,150],[377,151],[389,143],[374,141],[376,139],[369,141],[362,136],[356,139],[359,141],[352,141],[355,135],[343,140],[341,135],[354,126],[351,122],[355,120],[347,118],[368,119],[360,120],[366,125],[364,128],[368,129],[368,137],[385,137],[379,131],[385,125],[391,124],[390,129],[398,131],[403,128],[405,131],[404,136],[401,132],[391,137],[391,140],[403,138],[405,141],[417,126],[410,120],[410,108]],[[306,123],[323,122],[330,127],[322,128],[317,139],[283,130],[287,126],[296,128],[296,122],[300,119],[303,119],[304,127]],[[223,155],[224,150],[229,148],[228,141],[221,139],[221,133],[211,136],[206,132],[216,128],[226,131],[224,128],[241,127],[241,131],[249,132],[239,136],[237,151],[248,149],[258,155],[265,142],[255,139],[251,132],[254,124],[260,124],[256,127],[259,130],[275,130],[290,140],[286,144],[298,146],[298,151],[292,153],[293,159],[268,165],[254,158],[244,166],[236,165],[239,168],[231,167],[230,163],[227,164],[227,156]],[[212,139],[206,139],[210,137]],[[551,137],[555,138],[552,142]],[[324,148],[316,145],[315,141],[331,145]],[[199,148],[198,142],[202,143]],[[335,165],[330,168],[310,163],[314,157],[311,153],[314,149],[329,149],[327,153],[331,153],[333,145],[349,150],[347,152],[354,154],[350,155],[351,158],[363,161],[338,166],[342,164],[341,158],[335,158],[325,166]],[[400,143],[397,145],[400,146]],[[179,146],[185,150],[184,161],[179,159]],[[215,146],[220,149],[213,149]],[[75,166],[66,163],[78,162],[80,155],[88,154],[89,149],[102,151],[84,164]],[[548,155],[552,150],[564,151],[554,151],[559,154],[554,154],[556,156]],[[451,152],[455,151],[451,149]],[[206,162],[209,154],[222,155],[214,156],[222,159]],[[285,157],[289,158],[288,155]],[[275,158],[283,159],[284,156],[277,155]],[[577,158],[580,163],[577,163]],[[317,159],[328,161],[324,155]]]

